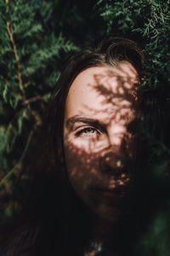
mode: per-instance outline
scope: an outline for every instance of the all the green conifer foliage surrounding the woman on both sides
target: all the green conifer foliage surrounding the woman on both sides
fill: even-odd
[[[20,176],[33,131],[41,125],[42,110],[65,57],[94,44],[108,33],[132,38],[144,49],[147,62],[140,88],[147,102],[147,118],[141,136],[147,138],[151,148],[147,177],[153,189],[160,189],[165,183],[168,187],[169,0],[3,0],[0,2],[0,31],[2,219],[14,215],[11,197],[14,183]],[[161,185],[157,186],[159,183]],[[153,254],[151,247],[155,247],[161,233],[167,244],[168,206],[165,212],[156,214],[141,241],[145,248],[143,255]],[[151,241],[150,237],[153,238]],[[165,247],[162,249],[160,245],[154,255],[167,255]]]

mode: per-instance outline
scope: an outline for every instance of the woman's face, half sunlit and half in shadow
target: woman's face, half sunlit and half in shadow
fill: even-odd
[[[101,218],[115,219],[133,172],[138,73],[127,61],[89,67],[77,75],[65,102],[64,148],[72,187]]]

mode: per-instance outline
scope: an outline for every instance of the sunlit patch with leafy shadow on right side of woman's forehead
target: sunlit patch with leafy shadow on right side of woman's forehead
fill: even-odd
[[[124,108],[122,112],[125,112],[127,108],[126,115],[128,115],[128,110],[131,108],[130,114],[132,116],[129,116],[129,118],[133,119],[135,108],[138,104],[137,88],[139,79],[134,68],[131,70],[130,67],[130,73],[122,73],[122,71],[128,71],[126,64],[115,68],[110,67],[110,69],[107,67],[103,73],[94,74],[94,83],[88,84],[88,86],[92,91],[98,92],[96,94],[98,97],[97,102],[103,105],[103,109],[99,110],[98,106],[89,108],[88,105],[85,105],[84,108],[88,108],[94,114],[104,113],[105,116],[108,113],[113,113],[113,111],[119,112],[117,119],[120,119],[121,114],[122,121],[124,119],[120,110]]]

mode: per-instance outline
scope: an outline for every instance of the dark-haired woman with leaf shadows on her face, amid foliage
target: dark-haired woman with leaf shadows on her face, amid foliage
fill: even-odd
[[[27,157],[29,221],[3,255],[133,255],[143,64],[137,44],[112,37],[67,62]]]

